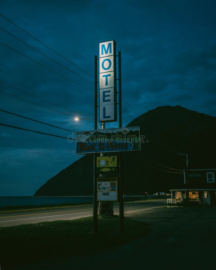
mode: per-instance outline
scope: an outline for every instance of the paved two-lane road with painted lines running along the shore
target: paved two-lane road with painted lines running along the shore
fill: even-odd
[[[165,205],[165,200],[125,203],[124,212],[132,213],[149,208]],[[119,205],[113,207],[114,214],[119,214]],[[43,211],[26,211],[0,214],[0,227],[13,226],[19,224],[38,223],[53,220],[71,220],[80,217],[89,217],[93,215],[92,206],[78,206],[70,208],[47,209]]]

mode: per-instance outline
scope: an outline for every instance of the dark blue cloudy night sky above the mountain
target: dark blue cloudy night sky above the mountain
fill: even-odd
[[[214,0],[2,0],[1,15],[38,41],[0,16],[0,109],[74,132],[94,129],[93,122],[74,117],[94,117],[94,55],[99,42],[114,39],[122,54],[122,96],[133,109],[122,100],[123,126],[164,105],[216,116],[215,10]],[[1,124],[72,135],[0,116]],[[34,195],[81,157],[64,138],[2,125],[0,138],[0,196]]]

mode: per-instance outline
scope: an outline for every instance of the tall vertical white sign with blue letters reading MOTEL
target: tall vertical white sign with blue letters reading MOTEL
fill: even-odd
[[[116,122],[116,41],[99,43],[99,122]]]

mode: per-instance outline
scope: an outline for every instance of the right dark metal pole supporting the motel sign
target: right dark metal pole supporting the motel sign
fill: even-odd
[[[119,128],[122,128],[122,76],[121,76],[121,52],[119,55]],[[124,232],[124,182],[122,177],[122,152],[119,152],[119,219],[120,232]]]

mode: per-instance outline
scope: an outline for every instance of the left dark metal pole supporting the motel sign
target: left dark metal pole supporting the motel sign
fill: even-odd
[[[95,130],[97,129],[97,55],[95,55]],[[98,232],[98,201],[96,178],[97,154],[93,154],[93,232]]]

